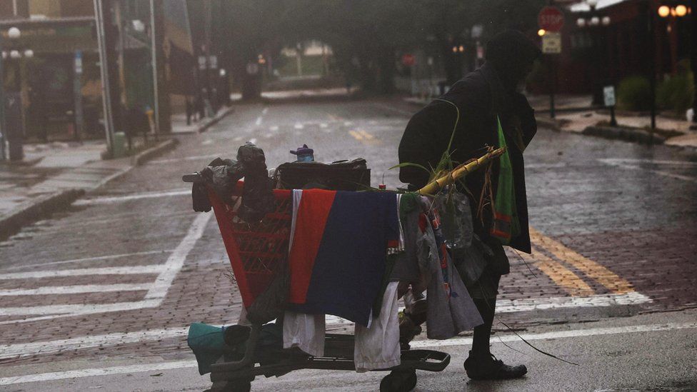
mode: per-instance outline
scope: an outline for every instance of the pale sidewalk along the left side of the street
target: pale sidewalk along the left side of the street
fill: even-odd
[[[104,141],[27,144],[20,163],[0,162],[0,240],[21,226],[69,206],[76,198],[126,174],[162,151],[174,148],[177,134],[200,132],[215,124],[231,108],[214,119],[186,126],[184,116],[173,116],[172,137],[134,156],[102,160]],[[181,118],[180,118],[181,117]]]

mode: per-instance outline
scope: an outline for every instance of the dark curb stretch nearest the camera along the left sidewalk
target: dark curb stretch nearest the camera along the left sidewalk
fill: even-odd
[[[84,193],[83,189],[67,189],[39,196],[36,200],[21,204],[18,211],[0,216],[0,240],[17,233],[26,224],[67,208]]]

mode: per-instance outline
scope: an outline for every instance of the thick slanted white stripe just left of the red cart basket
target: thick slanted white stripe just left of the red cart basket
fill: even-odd
[[[191,223],[191,227],[189,227],[189,232],[186,233],[184,239],[174,248],[167,262],[164,263],[164,271],[155,279],[155,283],[153,283],[145,295],[146,299],[164,298],[167,295],[174,277],[179,273],[181,267],[184,266],[186,256],[189,256],[189,252],[196,245],[196,241],[199,241],[199,238],[204,235],[204,229],[211,220],[211,216],[213,216],[213,213],[199,213],[199,216],[196,216],[194,222]]]

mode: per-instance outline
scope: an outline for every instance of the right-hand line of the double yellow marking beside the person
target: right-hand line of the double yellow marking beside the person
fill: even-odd
[[[546,249],[559,260],[569,263],[574,268],[577,268],[578,271],[582,271],[589,278],[601,283],[601,285],[605,286],[613,293],[623,294],[634,291],[631,283],[617,276],[616,273],[613,273],[612,271],[608,270],[608,268],[601,266],[601,264],[596,263],[595,261],[592,261],[579,253],[576,253],[576,251],[567,248],[559,241],[543,235],[534,228],[530,228],[530,238],[537,246]]]

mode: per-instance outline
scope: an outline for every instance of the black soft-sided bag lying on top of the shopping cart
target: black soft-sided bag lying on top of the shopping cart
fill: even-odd
[[[370,187],[370,169],[365,159],[321,162],[288,162],[276,168],[276,188],[324,188],[334,191],[363,191]]]

